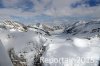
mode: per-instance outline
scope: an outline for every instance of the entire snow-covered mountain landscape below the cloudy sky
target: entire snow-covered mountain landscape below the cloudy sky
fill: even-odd
[[[0,66],[12,66],[15,60],[24,66],[25,64],[36,66],[35,63],[38,61],[35,59],[38,58],[40,61],[41,57],[44,60],[42,59],[40,66],[98,66],[99,64],[99,21],[78,22],[62,26],[60,29],[58,29],[59,26],[57,29],[51,29],[51,25],[49,27],[46,25],[45,28],[43,25],[41,27],[38,25],[39,28],[24,25],[23,28],[20,23],[10,23],[9,26],[12,25],[10,28],[5,24],[2,27],[0,24],[0,40],[2,42],[0,43]],[[6,24],[8,25],[8,23]],[[20,25],[24,31],[16,25]],[[20,60],[22,57],[25,61]],[[48,63],[45,62],[45,58],[49,61]],[[61,63],[57,62],[61,58],[64,60],[60,61]],[[51,62],[50,59],[56,59],[56,62],[52,60]],[[68,62],[65,61],[66,59]],[[11,63],[11,61],[13,62]],[[3,65],[4,62],[5,65]]]

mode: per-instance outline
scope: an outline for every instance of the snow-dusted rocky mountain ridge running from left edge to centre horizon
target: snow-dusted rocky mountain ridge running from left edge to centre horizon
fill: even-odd
[[[49,34],[55,30],[63,29],[61,25],[49,25],[49,24],[33,24],[33,25],[24,25],[16,21],[4,21],[0,23],[0,29],[10,30],[10,31],[21,31],[27,32],[28,30],[33,30],[39,33]]]

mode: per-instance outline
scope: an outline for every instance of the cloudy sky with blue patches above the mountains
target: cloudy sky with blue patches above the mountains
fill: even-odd
[[[100,18],[100,0],[0,0],[0,21],[52,22]]]

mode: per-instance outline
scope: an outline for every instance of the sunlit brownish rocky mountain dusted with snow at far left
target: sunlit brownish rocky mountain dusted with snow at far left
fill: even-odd
[[[24,24],[21,24],[16,21],[4,21],[0,23],[0,28],[18,30],[18,31],[27,31],[27,27]]]

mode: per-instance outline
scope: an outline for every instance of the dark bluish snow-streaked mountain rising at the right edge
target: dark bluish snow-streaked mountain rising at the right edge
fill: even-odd
[[[95,35],[100,32],[100,21],[79,21],[65,28],[64,33],[67,34],[88,34]]]

